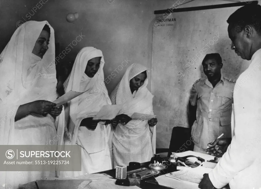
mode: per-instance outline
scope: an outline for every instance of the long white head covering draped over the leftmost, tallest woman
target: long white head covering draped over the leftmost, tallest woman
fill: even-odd
[[[45,24],[50,27],[50,44],[40,59],[32,50]],[[20,105],[57,98],[55,64],[52,66],[55,60],[54,29],[47,21],[28,21],[22,26],[16,29],[0,55],[0,117],[7,118],[0,125],[0,144],[12,143],[14,118]],[[44,121],[51,120],[46,118]]]

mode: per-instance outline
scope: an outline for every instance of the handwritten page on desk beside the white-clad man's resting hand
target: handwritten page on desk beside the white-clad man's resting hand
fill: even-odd
[[[203,174],[211,172],[212,169],[206,167],[197,167],[191,169],[179,170],[173,173],[166,174],[167,177],[174,178],[180,181],[194,182],[199,184],[203,179]]]

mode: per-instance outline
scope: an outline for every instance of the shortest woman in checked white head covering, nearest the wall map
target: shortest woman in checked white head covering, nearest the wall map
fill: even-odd
[[[147,89],[148,69],[140,64],[132,64],[121,82],[111,93],[112,104],[121,105],[119,114],[131,116],[133,113],[153,115],[153,95]],[[157,118],[131,120],[123,125],[118,123],[113,133],[113,167],[127,166],[129,162],[147,162],[156,152]]]

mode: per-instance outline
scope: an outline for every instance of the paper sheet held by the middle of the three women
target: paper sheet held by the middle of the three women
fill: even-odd
[[[119,105],[104,105],[93,119],[111,120],[118,115],[120,110]]]

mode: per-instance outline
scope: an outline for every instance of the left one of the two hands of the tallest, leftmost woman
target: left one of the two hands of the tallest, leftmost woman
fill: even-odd
[[[29,113],[45,115],[50,113],[54,106],[56,106],[55,103],[46,100],[33,101],[29,103]]]

